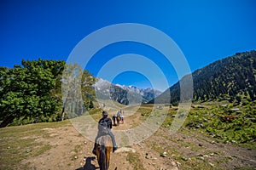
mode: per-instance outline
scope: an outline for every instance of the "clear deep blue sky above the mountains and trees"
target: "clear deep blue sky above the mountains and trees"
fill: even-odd
[[[2,0],[0,65],[13,67],[20,64],[21,59],[66,60],[76,44],[91,32],[113,24],[140,23],[172,37],[183,51],[191,71],[195,71],[236,52],[256,49],[255,8],[253,0]],[[102,48],[86,69],[96,76],[109,59],[129,53],[153,59],[170,86],[177,82],[172,65],[166,64],[161,54],[135,42]],[[135,72],[119,74],[113,82],[150,87],[147,77]]]

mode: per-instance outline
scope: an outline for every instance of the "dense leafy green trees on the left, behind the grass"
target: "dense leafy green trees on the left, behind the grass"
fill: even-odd
[[[65,112],[61,93],[65,66],[65,61],[38,59],[22,60],[14,68],[0,67],[0,127],[61,120]],[[81,81],[82,105],[89,108],[94,94],[90,84],[95,80],[84,71]]]

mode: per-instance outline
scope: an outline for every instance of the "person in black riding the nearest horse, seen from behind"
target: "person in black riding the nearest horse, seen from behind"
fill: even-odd
[[[113,133],[111,132],[112,128],[112,120],[108,117],[108,112],[107,111],[102,111],[102,118],[98,123],[98,133],[95,139],[94,147],[92,150],[92,153],[96,155],[96,141],[98,138],[100,138],[104,134],[109,134],[109,136],[112,139],[113,143],[113,152],[118,149],[118,146],[116,145]]]

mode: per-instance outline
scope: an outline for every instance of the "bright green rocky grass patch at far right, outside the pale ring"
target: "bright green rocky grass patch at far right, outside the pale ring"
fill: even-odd
[[[208,105],[206,108],[194,108],[190,110],[185,126],[207,133],[225,143],[256,149],[256,109],[253,109],[253,105],[253,103],[238,106],[230,104],[226,107]],[[239,108],[239,111],[231,111],[232,108]],[[223,122],[220,116],[236,118],[230,122]]]

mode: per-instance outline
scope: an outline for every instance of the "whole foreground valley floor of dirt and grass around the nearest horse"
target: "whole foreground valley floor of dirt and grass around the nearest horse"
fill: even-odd
[[[125,129],[131,123],[134,120],[127,117],[124,124],[113,129]],[[93,142],[79,134],[69,121],[5,127],[0,133],[0,169],[95,170],[98,167],[91,153]],[[184,127],[172,135],[160,127],[142,143],[121,147],[113,153],[109,169],[115,168],[255,169],[256,150],[224,144]]]

